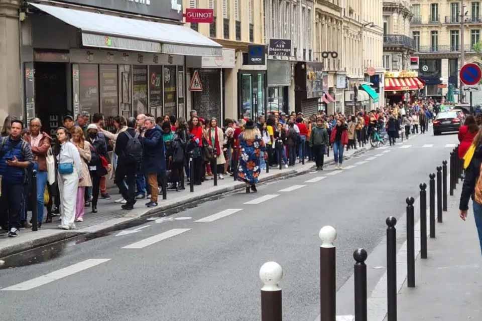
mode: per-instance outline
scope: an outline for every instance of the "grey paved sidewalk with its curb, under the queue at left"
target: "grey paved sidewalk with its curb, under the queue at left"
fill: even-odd
[[[357,150],[350,149],[344,152],[343,157],[348,158],[355,153],[361,153],[370,148],[370,145],[358,148]],[[333,152],[330,150],[330,157],[325,156],[325,165],[333,164]],[[295,167],[283,169],[270,169],[270,173],[266,174],[263,171],[261,174],[261,182],[267,182],[274,179],[284,178],[292,175],[301,175],[310,172],[314,167],[313,162],[305,162],[305,165],[296,164]],[[168,191],[167,200],[162,200],[162,195],[159,195],[159,206],[153,209],[148,209],[144,206],[148,200],[138,200],[134,210],[125,211],[121,209],[121,204],[115,204],[114,200],[120,198],[118,190],[113,188],[109,190],[112,200],[99,199],[97,210],[98,213],[90,213],[90,208],[86,208],[84,222],[77,222],[76,230],[65,231],[57,228],[59,222],[57,217],[54,217],[53,223],[43,223],[42,229],[33,232],[30,229],[21,229],[20,236],[16,238],[9,238],[7,236],[0,237],[0,258],[14,253],[25,251],[33,247],[43,246],[56,241],[75,237],[81,234],[103,233],[118,229],[119,226],[127,225],[130,222],[149,215],[167,215],[165,212],[176,208],[185,206],[187,203],[200,201],[210,197],[219,196],[223,193],[231,192],[237,189],[243,189],[245,183],[234,182],[231,176],[225,176],[224,180],[217,181],[218,186],[214,186],[212,180],[204,182],[201,186],[194,186],[194,193],[189,192],[189,185],[186,185],[186,190],[183,192]],[[31,214],[29,214],[29,217]]]

